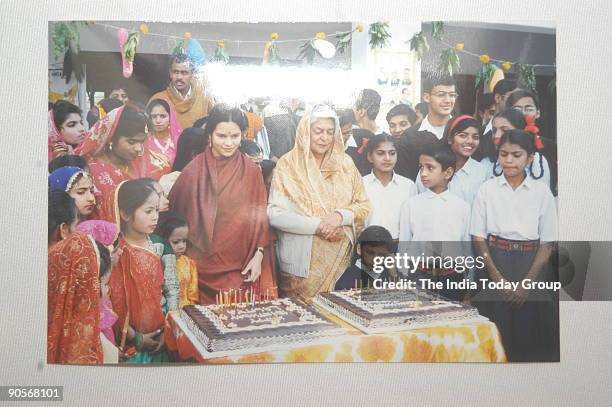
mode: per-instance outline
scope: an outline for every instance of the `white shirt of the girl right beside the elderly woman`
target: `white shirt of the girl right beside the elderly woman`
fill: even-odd
[[[414,182],[393,173],[391,181],[383,185],[372,172],[363,177],[363,185],[372,203],[372,210],[366,219],[365,226],[382,226],[391,233],[393,239],[397,239],[402,205],[411,196],[416,195]]]

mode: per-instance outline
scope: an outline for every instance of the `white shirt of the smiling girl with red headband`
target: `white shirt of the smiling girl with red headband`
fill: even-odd
[[[487,167],[470,157],[463,167],[455,172],[448,184],[448,190],[472,205],[480,185],[487,179],[489,179]],[[419,193],[427,190],[421,181],[420,171],[417,175],[416,186]]]

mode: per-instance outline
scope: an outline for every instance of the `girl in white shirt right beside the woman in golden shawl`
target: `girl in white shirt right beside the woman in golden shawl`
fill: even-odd
[[[363,184],[372,203],[365,226],[382,226],[393,239],[399,237],[400,209],[404,202],[416,194],[412,180],[396,174],[395,140],[388,134],[378,134],[368,142],[367,158],[372,172],[363,177]]]

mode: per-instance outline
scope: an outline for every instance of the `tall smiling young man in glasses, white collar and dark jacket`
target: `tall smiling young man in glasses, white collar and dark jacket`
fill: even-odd
[[[397,145],[395,171],[411,180],[419,172],[419,155],[423,149],[439,143],[444,127],[451,118],[457,100],[455,81],[452,76],[436,73],[426,75],[423,81],[423,101],[429,113],[423,121],[405,131]]]

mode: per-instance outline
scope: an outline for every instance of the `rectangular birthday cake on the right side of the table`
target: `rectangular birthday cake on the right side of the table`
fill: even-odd
[[[314,303],[365,333],[483,319],[470,305],[423,290],[332,291],[318,294]]]

